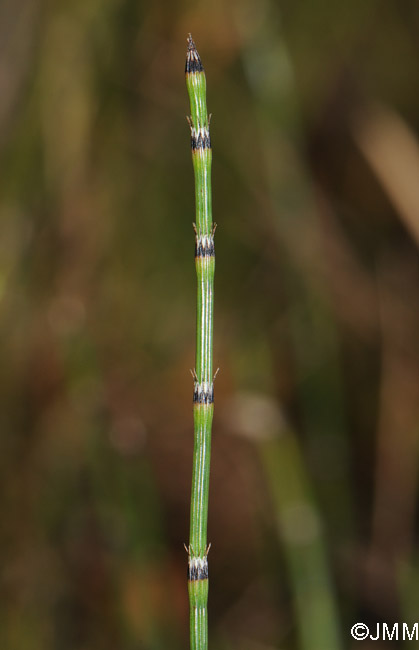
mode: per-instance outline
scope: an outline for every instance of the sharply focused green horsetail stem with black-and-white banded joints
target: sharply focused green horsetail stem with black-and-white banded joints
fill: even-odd
[[[197,275],[196,357],[193,371],[194,451],[191,523],[188,551],[188,591],[191,650],[208,647],[208,490],[211,425],[214,411],[212,335],[214,303],[214,226],[211,206],[211,140],[206,80],[201,59],[189,34],[186,86],[191,104],[192,162],[195,175],[195,266]]]

